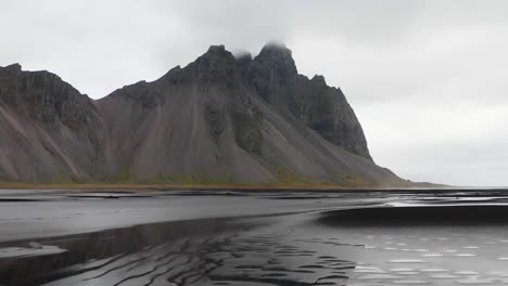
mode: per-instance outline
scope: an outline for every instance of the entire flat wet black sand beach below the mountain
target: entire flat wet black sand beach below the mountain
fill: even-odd
[[[508,192],[0,191],[0,285],[507,285]]]

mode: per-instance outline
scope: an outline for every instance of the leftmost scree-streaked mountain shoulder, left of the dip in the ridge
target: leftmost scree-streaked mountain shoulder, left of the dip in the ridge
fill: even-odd
[[[93,102],[48,72],[0,68],[0,178],[90,180],[105,129]]]

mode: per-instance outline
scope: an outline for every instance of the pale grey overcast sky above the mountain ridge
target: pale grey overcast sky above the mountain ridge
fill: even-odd
[[[508,185],[508,1],[2,0],[0,66],[82,93],[154,80],[208,46],[284,42],[340,87],[374,160],[403,178]]]

